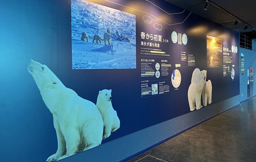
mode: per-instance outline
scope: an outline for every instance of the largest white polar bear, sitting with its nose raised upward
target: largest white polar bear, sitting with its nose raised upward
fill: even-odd
[[[47,162],[100,145],[103,120],[96,105],[65,87],[46,65],[30,60],[27,69],[52,113],[57,134],[58,150]]]

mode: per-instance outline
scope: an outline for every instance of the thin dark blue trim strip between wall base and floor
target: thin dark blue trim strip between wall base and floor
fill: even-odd
[[[256,96],[256,95],[254,95],[254,96]],[[250,97],[250,98],[253,98],[254,96],[252,96],[252,97]],[[244,100],[244,101],[247,101],[247,100],[249,100],[250,98],[247,98],[247,99]],[[242,102],[244,102],[244,101],[242,101]],[[240,102],[240,103],[242,103],[242,102]],[[198,126],[198,125],[200,125],[200,124],[202,124],[202,123],[204,123],[204,122],[206,122],[206,121],[208,121],[208,120],[210,120],[210,119],[212,119],[212,118],[214,118],[214,117],[216,117],[216,116],[218,116],[218,115],[223,114],[224,112],[227,112],[227,111],[229,111],[229,110],[235,108],[236,106],[239,106],[239,104],[237,104],[237,105],[235,105],[235,106],[233,106],[233,107],[231,107],[231,108],[229,108],[229,109],[227,109],[227,110],[225,110],[225,111],[223,111],[223,112],[220,112],[220,113],[218,113],[217,115],[214,115],[214,116],[212,116],[212,117],[209,117],[208,119],[203,120],[203,121],[201,121],[201,122],[195,124],[194,126],[191,126],[191,127],[189,127],[189,128],[186,128],[186,129],[184,129],[183,131],[180,131],[179,133],[174,134],[174,135],[172,135],[171,137],[168,137],[168,138],[166,138],[165,140],[162,140],[162,141],[160,141],[160,142],[158,142],[158,143],[156,143],[156,144],[154,144],[154,145],[152,145],[152,146],[150,146],[150,147],[148,147],[148,148],[145,148],[144,150],[142,150],[142,151],[140,151],[140,152],[138,152],[138,153],[136,153],[136,154],[134,154],[134,155],[131,155],[131,156],[129,156],[129,157],[127,157],[127,158],[125,158],[125,159],[119,161],[119,162],[126,162],[126,161],[128,161],[128,160],[131,160],[131,159],[133,159],[133,158],[139,156],[140,154],[143,154],[143,153],[145,153],[146,151],[148,151],[148,150],[150,150],[150,149],[152,149],[152,148],[154,148],[154,147],[156,147],[156,146],[158,146],[158,145],[160,145],[160,144],[162,144],[162,143],[164,143],[164,142],[166,142],[166,141],[168,141],[168,140],[171,140],[172,138],[174,138],[174,137],[176,137],[176,136],[178,136],[178,135],[184,133],[185,131],[188,131],[189,129],[194,128],[195,126]]]

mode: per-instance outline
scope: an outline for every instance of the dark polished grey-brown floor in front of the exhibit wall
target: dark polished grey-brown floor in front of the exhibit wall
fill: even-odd
[[[256,97],[128,162],[256,162]]]

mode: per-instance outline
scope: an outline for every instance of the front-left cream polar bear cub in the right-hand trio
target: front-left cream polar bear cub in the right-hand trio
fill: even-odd
[[[188,90],[188,99],[189,99],[189,108],[190,111],[193,111],[195,109],[201,109],[201,92],[204,87],[204,79],[201,79],[198,83],[192,82],[189,85],[189,90]]]

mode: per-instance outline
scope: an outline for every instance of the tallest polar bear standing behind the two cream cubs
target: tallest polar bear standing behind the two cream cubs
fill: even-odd
[[[199,81],[201,81],[201,79],[204,79],[204,81],[206,81],[206,75],[207,75],[207,70],[200,71],[198,68],[196,68],[192,73],[191,83],[192,82],[198,83]],[[202,89],[201,94],[203,96],[203,104],[205,104],[205,101],[204,101],[204,97],[205,97],[204,87]],[[200,96],[200,106],[201,106],[201,96]]]

